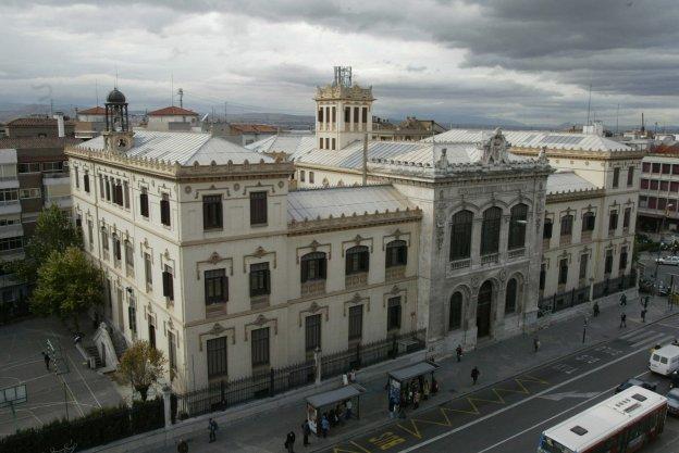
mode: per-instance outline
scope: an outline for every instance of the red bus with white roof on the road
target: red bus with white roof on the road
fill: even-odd
[[[542,432],[539,453],[630,453],[665,426],[667,399],[639,386]]]

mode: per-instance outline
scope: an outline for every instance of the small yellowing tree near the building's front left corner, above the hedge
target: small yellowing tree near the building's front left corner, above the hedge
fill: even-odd
[[[146,401],[148,389],[162,377],[165,357],[148,341],[135,341],[120,360],[118,374]]]

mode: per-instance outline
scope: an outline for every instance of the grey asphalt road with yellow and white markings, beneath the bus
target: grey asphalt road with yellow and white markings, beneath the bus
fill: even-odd
[[[534,452],[540,432],[613,394],[622,380],[639,376],[669,388],[666,378],[647,370],[656,343],[679,336],[679,316],[624,332],[619,338],[570,355],[503,382],[394,421],[345,441],[334,453],[373,452]],[[644,452],[679,452],[679,420]]]

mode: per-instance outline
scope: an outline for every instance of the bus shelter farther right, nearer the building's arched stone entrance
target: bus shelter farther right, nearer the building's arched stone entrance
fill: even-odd
[[[410,395],[415,390],[424,399],[430,392],[436,392],[437,385],[434,379],[434,372],[439,368],[440,365],[433,362],[420,362],[391,372],[387,382],[390,412],[394,411],[395,406],[409,404]]]

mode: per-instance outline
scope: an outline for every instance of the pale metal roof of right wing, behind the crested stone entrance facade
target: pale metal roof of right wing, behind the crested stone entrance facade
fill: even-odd
[[[555,133],[548,130],[504,130],[513,147],[542,148],[575,151],[634,151],[620,142],[591,134]],[[434,137],[437,142],[478,143],[487,140],[493,131],[487,129],[450,129]],[[431,137],[422,141],[431,141]]]

